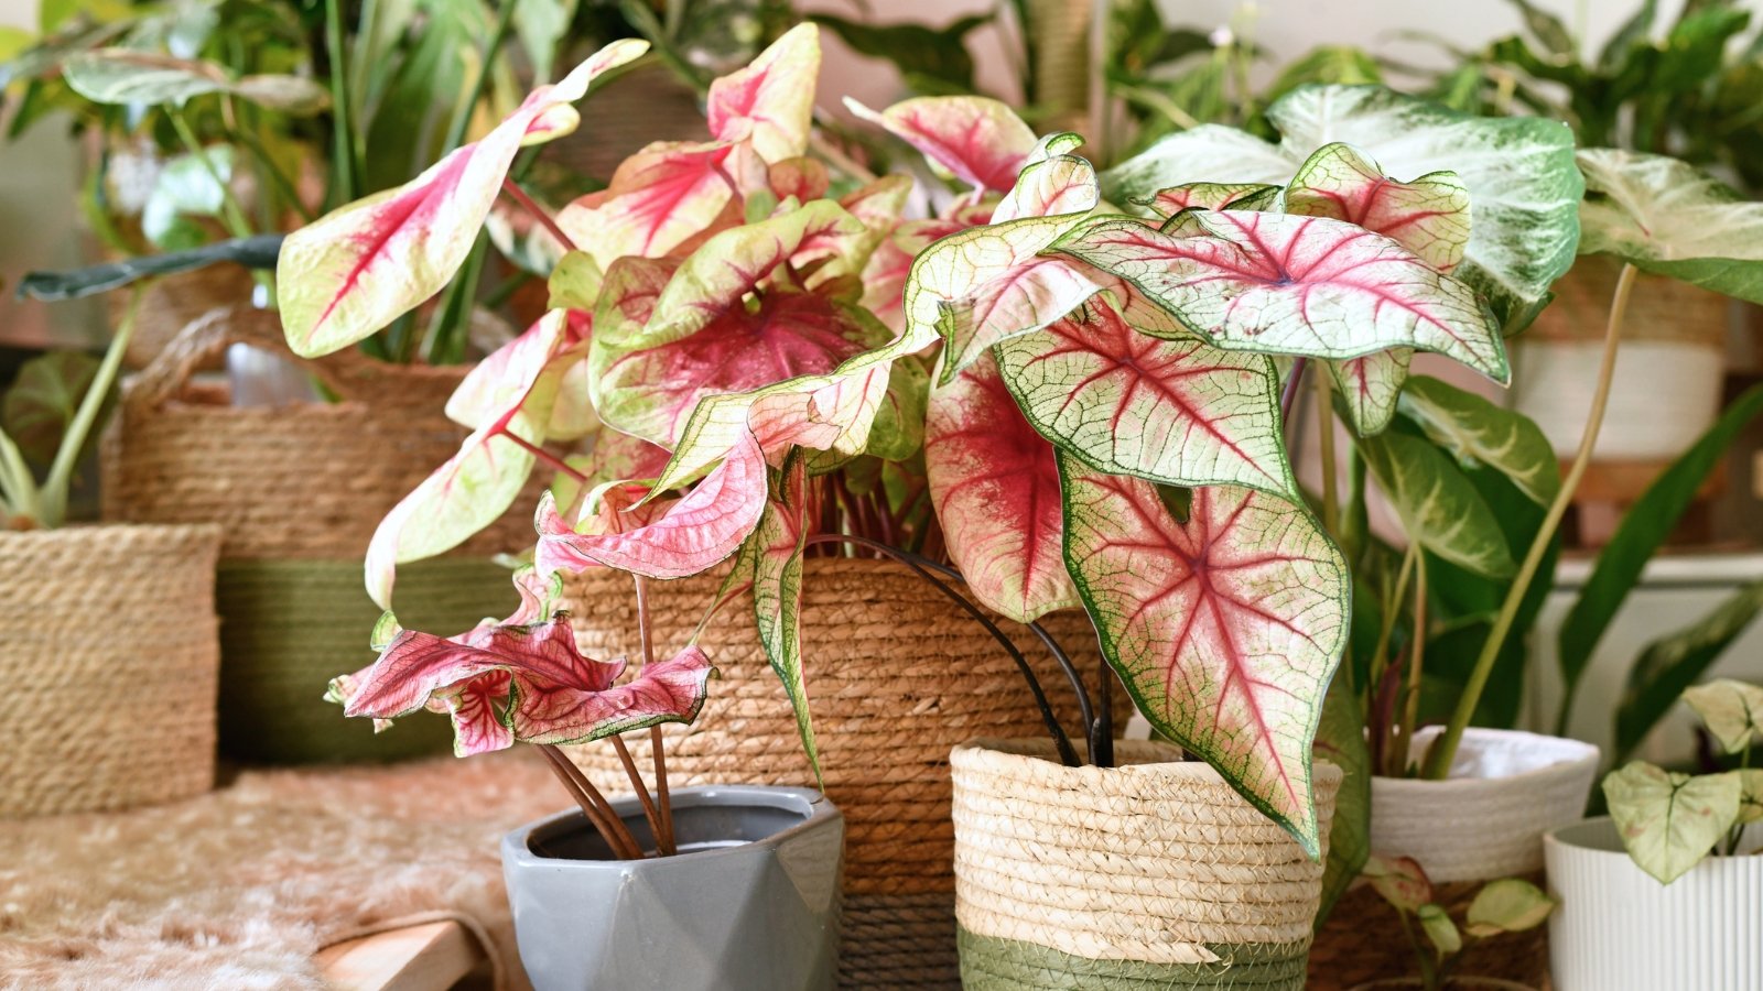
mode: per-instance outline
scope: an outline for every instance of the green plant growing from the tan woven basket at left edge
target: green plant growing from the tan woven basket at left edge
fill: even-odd
[[[132,328],[130,307],[102,360],[58,351],[32,358],[0,399],[0,525],[5,529],[55,529],[67,522],[74,473],[109,414]],[[33,464],[44,466],[42,481]]]

